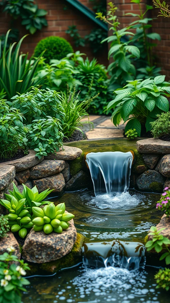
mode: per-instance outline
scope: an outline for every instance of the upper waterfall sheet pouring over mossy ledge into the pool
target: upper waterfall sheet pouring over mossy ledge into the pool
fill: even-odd
[[[133,156],[130,151],[91,152],[86,161],[90,169],[95,196],[125,192],[129,188]]]

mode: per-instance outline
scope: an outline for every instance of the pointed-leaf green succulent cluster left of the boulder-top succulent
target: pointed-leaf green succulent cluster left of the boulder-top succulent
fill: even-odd
[[[50,202],[43,200],[53,190],[48,188],[39,194],[36,186],[30,189],[26,185],[22,185],[24,189],[21,193],[13,183],[13,191],[9,191],[10,194],[5,194],[7,200],[1,199],[0,204],[9,211],[9,214],[5,215],[4,218],[8,219],[11,231],[19,232],[19,236],[25,238],[27,232],[34,225],[31,222],[32,207],[50,204]]]

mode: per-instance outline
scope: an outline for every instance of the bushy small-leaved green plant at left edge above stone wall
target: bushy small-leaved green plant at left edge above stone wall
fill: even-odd
[[[0,159],[10,159],[19,148],[27,146],[26,132],[23,125],[23,115],[16,108],[9,108],[0,100]]]

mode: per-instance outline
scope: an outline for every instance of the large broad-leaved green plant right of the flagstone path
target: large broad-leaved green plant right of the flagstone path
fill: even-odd
[[[153,122],[162,111],[168,112],[169,102],[163,95],[170,92],[168,82],[164,82],[165,75],[157,76],[154,79],[135,80],[129,82],[114,93],[116,97],[110,101],[107,110],[114,109],[112,121],[119,125],[121,119],[128,121],[125,132],[135,128],[140,137],[141,125],[144,125],[146,132],[151,129],[150,122]]]

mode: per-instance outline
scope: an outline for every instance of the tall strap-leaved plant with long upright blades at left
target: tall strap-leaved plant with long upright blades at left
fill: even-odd
[[[7,49],[7,41],[10,30],[7,32],[5,37],[5,43],[3,52],[1,53],[1,40],[0,40],[0,91],[4,89],[8,100],[13,97],[16,92],[22,94],[28,92],[32,85],[41,84],[42,79],[38,81],[34,80],[34,73],[36,71],[38,62],[43,55],[37,58],[31,66],[31,58],[27,60],[28,54],[19,55],[21,43],[24,38],[18,42],[10,45]],[[13,51],[15,46],[15,51]],[[31,66],[31,68],[30,68]]]

